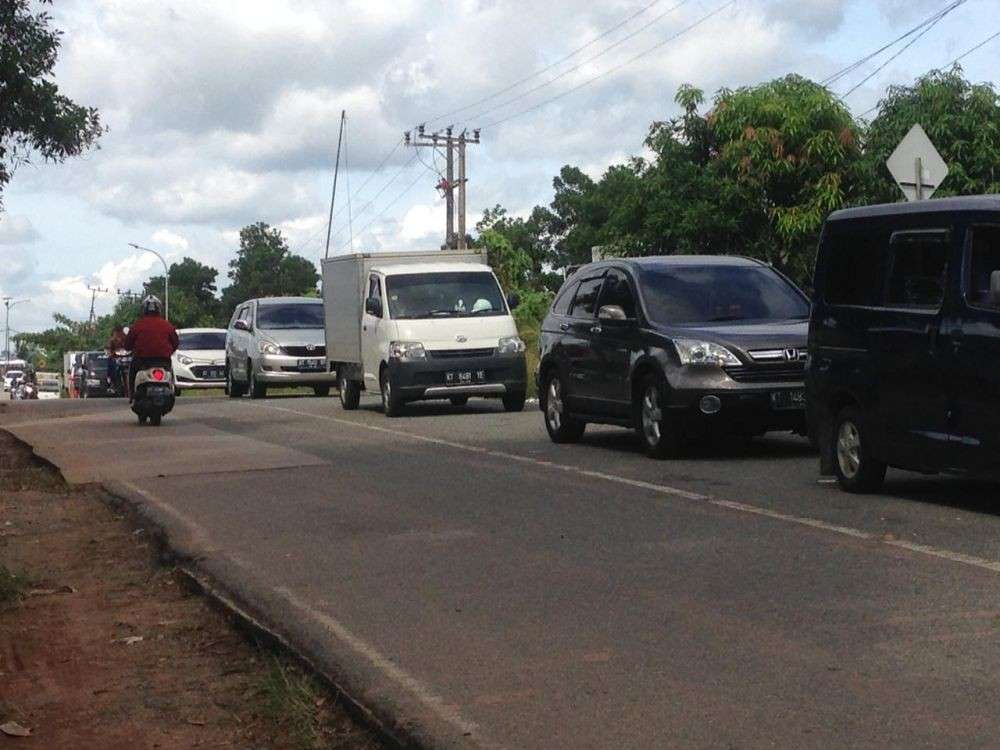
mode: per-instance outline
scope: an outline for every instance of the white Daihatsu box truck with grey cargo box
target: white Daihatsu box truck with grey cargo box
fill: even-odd
[[[388,416],[408,401],[498,398],[524,408],[524,342],[479,250],[360,253],[323,260],[327,369],[340,401],[380,393]]]

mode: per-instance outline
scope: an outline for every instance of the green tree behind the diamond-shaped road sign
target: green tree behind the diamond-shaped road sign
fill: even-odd
[[[955,65],[910,86],[890,86],[864,136],[867,199],[900,200],[885,160],[920,123],[948,164],[936,197],[1000,193],[1000,96],[993,84],[970,83]]]

